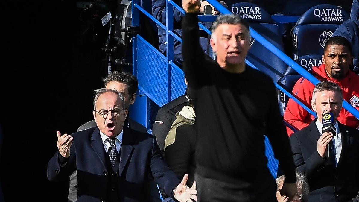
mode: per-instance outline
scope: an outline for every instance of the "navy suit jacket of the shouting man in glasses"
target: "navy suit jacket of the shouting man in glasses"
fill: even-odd
[[[70,157],[61,166],[59,152],[50,159],[47,166],[47,178],[50,181],[68,179],[77,170],[77,202],[104,201],[106,199],[108,174],[106,152],[97,127],[73,134]],[[123,128],[120,162],[118,168],[118,190],[120,201],[147,201],[146,184],[148,173],[172,196],[172,190],[180,180],[164,163],[156,138],[146,133]]]

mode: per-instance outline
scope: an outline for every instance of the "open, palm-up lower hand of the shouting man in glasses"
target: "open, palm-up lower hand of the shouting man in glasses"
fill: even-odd
[[[188,175],[185,174],[183,176],[182,182],[178,184],[176,189],[174,190],[174,198],[177,199],[177,201],[180,202],[192,202],[192,199],[197,201],[197,189],[196,189],[196,182],[192,184],[192,187],[189,188],[186,185],[186,182],[188,180]]]

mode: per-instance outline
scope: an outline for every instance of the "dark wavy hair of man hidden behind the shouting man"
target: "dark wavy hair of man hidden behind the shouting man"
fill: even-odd
[[[106,85],[111,81],[116,81],[126,84],[127,86],[129,86],[129,93],[131,94],[135,94],[137,91],[138,80],[131,73],[113,71],[109,73],[107,77],[103,78],[103,86],[106,88]]]

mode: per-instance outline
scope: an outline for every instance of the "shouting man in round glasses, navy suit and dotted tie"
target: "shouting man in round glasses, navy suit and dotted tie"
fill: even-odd
[[[195,186],[186,186],[162,160],[154,136],[136,132],[123,123],[124,96],[112,89],[95,91],[93,116],[97,127],[73,135],[57,132],[58,152],[50,159],[50,181],[67,178],[77,170],[77,201],[147,201],[148,173],[178,201],[197,199]]]

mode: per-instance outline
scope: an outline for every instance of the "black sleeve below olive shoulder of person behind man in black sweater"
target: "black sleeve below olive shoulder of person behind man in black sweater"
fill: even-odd
[[[192,126],[181,125],[175,130],[171,130],[175,136],[174,142],[169,144],[164,151],[164,156],[168,166],[171,167],[179,178],[183,178],[183,176],[187,173],[191,159],[191,144],[188,141],[186,134],[186,131],[188,132],[191,130],[185,130],[186,127]],[[170,135],[171,134],[168,134],[168,136]]]

